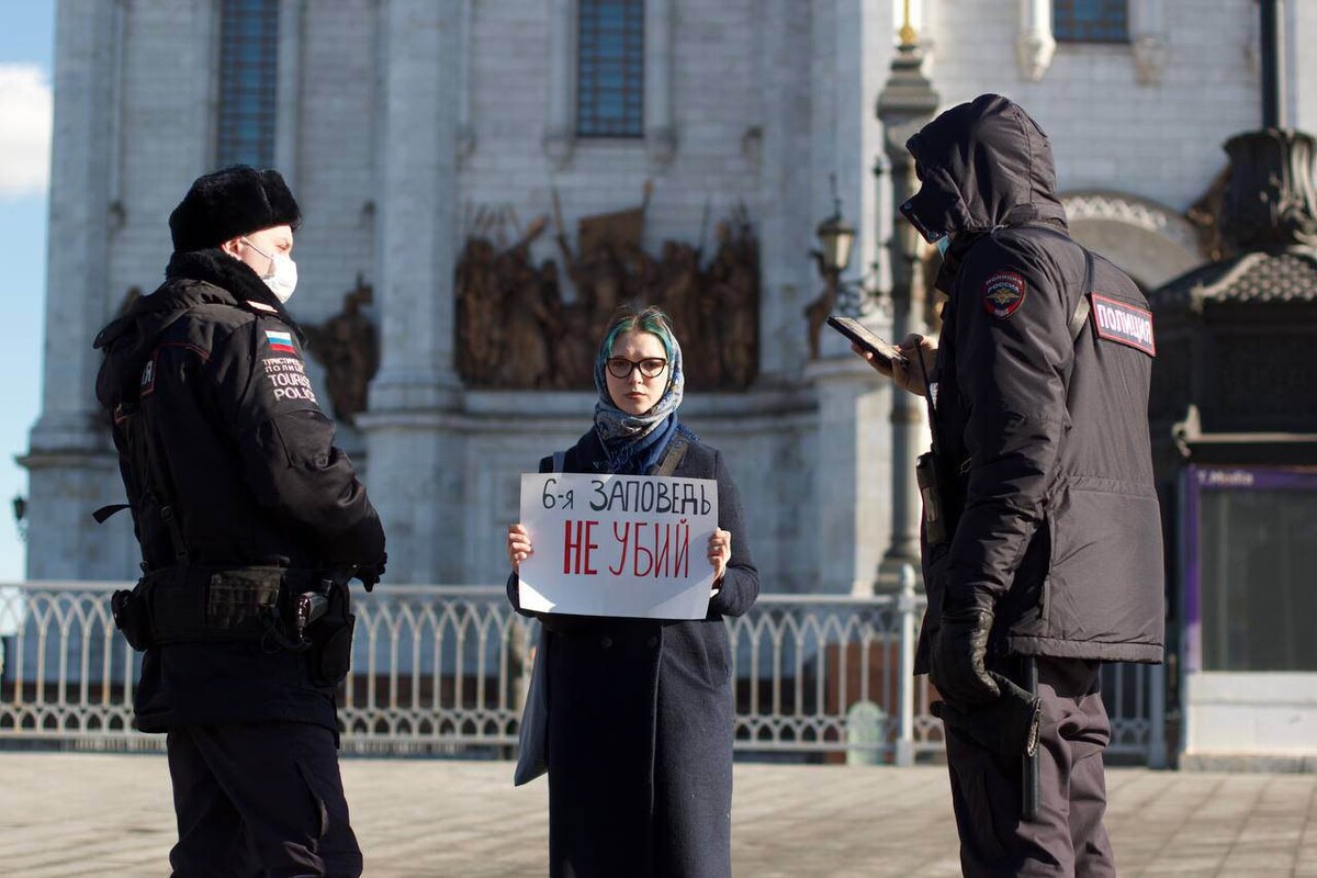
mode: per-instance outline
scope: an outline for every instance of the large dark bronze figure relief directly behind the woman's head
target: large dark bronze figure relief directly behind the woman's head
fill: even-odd
[[[581,217],[576,246],[560,221],[561,263],[531,255],[548,217],[522,229],[515,216],[508,208],[478,211],[457,263],[457,370],[469,388],[591,387],[595,346],[624,303],[668,312],[689,387],[736,391],[753,382],[759,241],[744,208],[718,224],[707,257],[681,241],[647,253],[640,246],[644,207]],[[569,284],[572,296],[565,295]]]

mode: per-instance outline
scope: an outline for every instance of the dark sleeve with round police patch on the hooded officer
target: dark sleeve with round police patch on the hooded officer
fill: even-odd
[[[944,607],[952,608],[992,606],[1010,590],[1068,423],[1064,382],[1075,354],[1060,278],[1050,263],[988,247],[956,291],[969,473],[947,567]]]

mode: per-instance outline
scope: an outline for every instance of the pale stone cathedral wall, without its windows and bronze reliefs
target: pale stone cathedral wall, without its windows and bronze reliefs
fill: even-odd
[[[468,205],[510,205],[523,226],[547,215],[551,226],[533,254],[537,261],[561,261],[553,241],[553,188],[576,244],[581,216],[637,205],[651,179],[644,245],[652,254],[668,238],[697,242],[706,204],[705,249],[711,253],[714,225],[745,203],[761,250],[760,378],[748,394],[691,392],[682,412],[724,450],[741,486],[756,558],[769,574],[765,587],[844,590],[872,573],[886,545],[888,396],[856,396],[852,411],[834,412],[847,429],[855,428],[853,436],[842,442],[819,437],[823,386],[817,378],[830,373],[806,369],[802,309],[822,286],[807,250],[815,246],[815,225],[831,212],[830,174],[838,175],[843,212],[860,232],[849,276],[877,258],[880,283],[885,279],[878,242],[889,233],[884,205],[890,196],[876,190],[871,167],[881,149],[873,109],[892,55],[893,1],[672,0],[670,162],[656,161],[644,141],[578,140],[560,165],[543,146],[552,80],[548,34],[554,11],[570,5],[448,0],[436,20],[462,29],[468,55],[461,63],[421,59],[415,76],[444,71],[444,82],[436,83],[408,82],[411,67],[386,63],[386,13],[402,8],[399,3],[288,0],[281,47],[295,57],[281,62],[284,117],[277,155],[306,213],[292,311],[320,323],[338,312],[358,272],[367,283],[381,283],[382,266],[396,265],[389,262],[382,238],[385,216],[394,222],[395,242],[406,244],[411,222],[449,228],[456,253],[468,230],[461,221]],[[1164,0],[1167,63],[1155,86],[1137,82],[1129,46],[1064,43],[1042,80],[1030,83],[1015,63],[1018,4],[914,5],[923,7],[928,71],[943,105],[986,90],[1019,100],[1052,137],[1064,191],[1118,191],[1183,211],[1223,167],[1221,142],[1256,125],[1256,12],[1250,0]],[[47,346],[54,350],[86,345],[129,287],[149,292],[157,286],[170,249],[169,211],[213,165],[217,0],[134,0],[112,8],[120,12],[99,13],[79,39],[109,39],[115,51],[90,57],[79,47],[83,54],[74,58],[75,43],[68,42],[58,50],[65,54],[57,53],[50,237],[75,244],[51,258]],[[414,8],[432,11],[427,4]],[[76,4],[62,4],[62,16],[71,17],[71,11]],[[1313,14],[1305,4],[1291,8],[1300,29],[1296,45],[1317,29]],[[87,63],[95,67],[92,75]],[[1296,87],[1305,63],[1312,61],[1297,62]],[[78,71],[70,76],[71,66]],[[390,204],[386,157],[411,157],[406,149],[386,153],[382,140],[389,70],[395,90],[417,101],[443,101],[450,117],[431,120],[431,128],[446,137],[457,120],[460,150],[450,190],[456,204],[416,197],[396,184]],[[99,82],[100,91],[86,88],[91,82]],[[86,91],[59,93],[59,83]],[[1303,90],[1292,97],[1301,124],[1317,116],[1309,112],[1313,100]],[[399,124],[406,113],[390,118],[391,130],[406,129]],[[79,187],[86,192],[79,195]],[[404,208],[398,196],[408,199]],[[449,215],[457,221],[436,219]],[[419,305],[453,295],[450,286],[435,280],[450,276],[446,257],[414,259],[404,269],[394,271],[394,288],[406,294],[392,307],[406,311],[412,303],[419,313],[437,313],[443,321],[443,309]],[[79,317],[75,305],[90,311]],[[377,290],[377,323],[382,309]],[[399,319],[398,312],[392,316]],[[435,337],[452,332],[445,325],[431,329]],[[72,332],[76,338],[67,337]],[[824,355],[838,363],[848,357],[844,345],[831,340]],[[83,521],[84,505],[121,496],[103,437],[87,438],[95,365],[90,355],[46,365],[42,425],[33,432],[33,453],[46,455],[32,470],[34,577],[132,573],[126,519],[119,516],[99,530]],[[437,367],[450,370],[452,363]],[[324,398],[320,367],[312,365],[311,374]],[[70,405],[61,394],[80,401]],[[367,483],[382,494],[407,487],[406,525],[391,533],[396,569],[415,571],[410,578],[417,581],[499,579],[506,566],[502,528],[515,512],[518,473],[574,441],[587,428],[591,408],[589,392],[456,392],[396,436],[369,445],[374,459],[362,461],[369,465]],[[344,429],[341,437],[354,457],[367,448],[357,430]],[[832,473],[828,480],[834,462],[819,454],[832,448],[852,448],[857,462],[853,471]],[[70,450],[76,454],[58,455]],[[412,478],[421,463],[427,475]],[[853,483],[856,473],[867,474],[867,484],[851,486],[851,505],[839,516],[836,488]],[[835,554],[838,517],[849,528],[843,534],[846,558],[830,561],[822,573],[823,557]]]

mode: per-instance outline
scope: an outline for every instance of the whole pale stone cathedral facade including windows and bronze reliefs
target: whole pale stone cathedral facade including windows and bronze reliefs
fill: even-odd
[[[1052,137],[1077,238],[1147,288],[1208,259],[1195,205],[1258,125],[1251,0],[909,5],[943,107],[998,91]],[[1292,47],[1312,5],[1287,5]],[[29,578],[134,577],[128,516],[91,519],[122,496],[91,340],[162,279],[190,182],[242,161],[302,204],[291,309],[327,340],[313,380],[390,581],[503,579],[518,474],[589,426],[579,351],[643,297],[680,311],[705,370],[682,415],[741,486],[765,590],[869,587],[890,391],[826,332],[811,357],[805,311],[834,180],[857,232],[844,276],[889,284],[874,104],[905,7],[59,0]],[[1293,53],[1289,124],[1317,128],[1314,65]],[[868,320],[889,334],[881,301]]]

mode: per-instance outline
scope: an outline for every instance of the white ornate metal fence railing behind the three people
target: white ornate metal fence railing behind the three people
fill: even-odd
[[[942,749],[926,678],[911,675],[923,599],[763,595],[728,619],[736,749],[910,763]],[[115,629],[121,583],[0,586],[0,745],[155,749],[132,728],[141,656]],[[381,753],[504,752],[516,744],[533,621],[502,587],[381,586],[354,595],[342,745]],[[1160,763],[1160,669],[1114,666],[1112,752]]]

